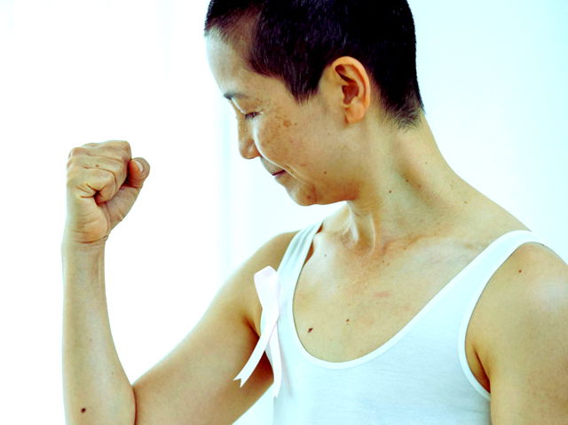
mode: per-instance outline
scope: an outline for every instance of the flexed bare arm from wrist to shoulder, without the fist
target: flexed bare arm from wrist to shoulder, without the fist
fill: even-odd
[[[221,287],[200,322],[130,385],[106,310],[104,251],[63,249],[63,366],[69,424],[230,424],[272,384],[264,355],[241,388],[233,378],[258,341],[254,273],[280,264],[295,233],[269,240]],[[85,409],[85,410],[83,410]]]

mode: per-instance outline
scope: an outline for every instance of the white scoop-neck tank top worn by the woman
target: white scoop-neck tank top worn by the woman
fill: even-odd
[[[490,394],[469,370],[465,354],[469,318],[501,264],[525,242],[544,243],[533,232],[503,234],[390,341],[361,358],[327,362],[304,349],[292,314],[296,282],[320,225],[296,233],[278,269],[280,315],[274,335],[281,383],[273,423],[490,424]],[[261,329],[265,320],[263,311]],[[266,353],[274,370],[271,347]]]

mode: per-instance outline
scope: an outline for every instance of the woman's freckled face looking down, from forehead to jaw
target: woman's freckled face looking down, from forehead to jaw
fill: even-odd
[[[343,117],[326,97],[318,93],[298,105],[280,80],[249,71],[217,35],[207,44],[211,72],[237,117],[241,155],[260,157],[271,175],[280,172],[274,178],[300,205],[343,201],[334,178],[345,159],[336,128]]]

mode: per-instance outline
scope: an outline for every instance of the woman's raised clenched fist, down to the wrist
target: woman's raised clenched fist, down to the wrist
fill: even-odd
[[[149,172],[146,160],[132,159],[128,142],[111,140],[72,149],[64,243],[106,242],[132,208]]]

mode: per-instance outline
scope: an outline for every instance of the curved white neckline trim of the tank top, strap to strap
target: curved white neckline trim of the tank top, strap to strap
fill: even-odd
[[[477,256],[475,256],[473,258],[473,260],[471,260],[469,262],[469,264],[467,264],[463,269],[461,269],[460,272],[458,272],[454,278],[450,279],[449,282],[446,283],[446,285],[444,287],[442,287],[442,289],[440,289],[438,291],[438,293],[436,295],[434,295],[432,298],[430,298],[430,301],[428,303],[426,303],[422,309],[420,309],[420,311],[418,311],[412,319],[410,319],[406,325],[404,327],[402,327],[401,329],[398,330],[398,332],[396,334],[394,334],[392,337],[390,337],[390,339],[387,342],[384,342],[381,346],[377,347],[375,350],[372,350],[370,352],[368,352],[367,354],[359,357],[359,358],[353,358],[351,360],[346,360],[346,361],[341,361],[341,362],[332,362],[332,361],[327,361],[324,360],[322,358],[317,358],[315,356],[313,356],[310,352],[308,352],[308,350],[306,350],[304,348],[304,345],[302,344],[302,342],[300,341],[300,337],[297,334],[297,330],[296,330],[296,321],[294,319],[294,295],[296,295],[296,286],[297,286],[297,282],[298,279],[300,277],[300,273],[302,272],[302,270],[304,269],[304,262],[305,262],[305,258],[312,246],[312,240],[315,236],[315,234],[319,231],[319,228],[321,227],[321,224],[323,223],[323,219],[321,221],[319,221],[316,224],[313,224],[312,228],[308,228],[310,229],[310,232],[306,232],[305,233],[305,240],[304,240],[304,246],[301,248],[301,252],[299,254],[300,257],[300,261],[298,261],[297,264],[299,264],[298,267],[296,267],[296,270],[291,273],[291,279],[293,279],[294,283],[291,285],[290,291],[288,292],[288,294],[290,294],[290,298],[289,298],[289,303],[287,306],[287,327],[291,330],[292,333],[292,340],[294,341],[294,345],[296,346],[296,349],[303,355],[304,358],[306,358],[308,361],[310,361],[312,364],[315,364],[317,366],[321,366],[327,369],[346,369],[349,367],[354,367],[354,366],[359,366],[362,365],[364,363],[367,363],[368,361],[373,360],[374,358],[377,358],[378,356],[380,356],[381,354],[383,354],[384,352],[386,352],[387,350],[389,350],[392,346],[394,346],[399,340],[401,340],[406,334],[408,334],[413,328],[414,326],[420,321],[420,319],[422,319],[422,317],[428,313],[428,311],[430,311],[430,309],[436,304],[438,303],[438,301],[443,298],[444,295],[446,295],[446,293],[448,291],[451,290],[452,287],[454,287],[455,283],[457,281],[459,281],[461,279],[462,276],[464,276],[465,274],[467,274],[469,272],[469,270],[471,270],[471,268],[473,268],[476,264],[478,264],[486,255],[487,253],[489,253],[495,246],[497,246],[498,244],[501,243],[502,240],[505,240],[509,237],[512,237],[513,235],[516,234],[521,234],[521,233],[525,233],[525,234],[530,234],[530,235],[534,235],[533,232],[528,231],[528,230],[513,230],[510,232],[506,232],[503,233],[500,237],[498,237],[496,240],[493,240],[493,242],[491,242],[487,247],[485,247],[479,254],[477,254]]]

